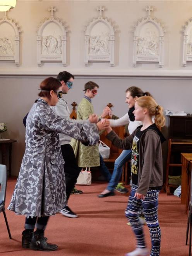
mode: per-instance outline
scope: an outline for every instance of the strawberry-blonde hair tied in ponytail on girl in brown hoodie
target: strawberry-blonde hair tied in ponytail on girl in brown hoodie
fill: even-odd
[[[149,110],[151,117],[155,116],[155,124],[159,127],[165,126],[165,117],[163,115],[163,108],[157,105],[154,98],[151,96],[142,96],[136,100],[137,104],[142,108]]]

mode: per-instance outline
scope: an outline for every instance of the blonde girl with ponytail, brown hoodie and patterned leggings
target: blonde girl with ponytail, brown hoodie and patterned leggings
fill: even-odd
[[[115,146],[122,149],[132,148],[132,187],[125,215],[131,223],[137,239],[137,246],[126,256],[149,255],[142,224],[139,222],[141,205],[151,236],[150,256],[159,256],[161,230],[158,222],[158,196],[163,185],[161,143],[165,141],[165,138],[152,119],[155,117],[157,125],[163,127],[165,117],[163,108],[151,96],[137,98],[133,114],[135,120],[141,121],[142,125],[125,139],[120,139],[111,127],[106,129],[107,139],[112,141]]]

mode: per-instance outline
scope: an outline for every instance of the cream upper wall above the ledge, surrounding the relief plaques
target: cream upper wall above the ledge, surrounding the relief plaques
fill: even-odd
[[[36,31],[45,17],[50,17],[48,8],[54,5],[55,17],[62,18],[68,26],[67,68],[74,74],[83,75],[157,75],[190,74],[192,65],[182,67],[182,26],[192,16],[192,1],[139,1],[139,0],[17,0],[16,7],[8,13],[21,27],[21,66],[0,63],[0,74],[57,74],[61,64],[46,63],[38,67],[36,62]],[[108,63],[93,63],[84,66],[84,29],[91,18],[98,16],[98,5],[105,6],[105,16],[117,29],[115,36],[115,67]],[[146,17],[146,5],[153,5],[154,15],[166,29],[165,65],[139,64],[132,67],[133,29],[138,19]],[[4,13],[0,13],[2,18]]]

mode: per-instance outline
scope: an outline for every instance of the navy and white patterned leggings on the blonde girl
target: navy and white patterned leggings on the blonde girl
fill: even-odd
[[[158,221],[158,196],[159,190],[149,189],[145,199],[134,198],[137,186],[132,184],[129,201],[125,215],[129,219],[137,239],[137,247],[145,248],[142,224],[139,222],[139,209],[143,206],[145,220],[149,227],[151,237],[151,256],[159,256],[161,243],[161,229]]]

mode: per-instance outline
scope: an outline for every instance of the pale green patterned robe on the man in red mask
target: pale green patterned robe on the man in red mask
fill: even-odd
[[[77,108],[77,119],[88,119],[94,113],[93,105],[86,98],[83,98]],[[70,142],[74,149],[79,167],[94,167],[100,165],[98,144],[84,146],[81,142],[72,139]]]

